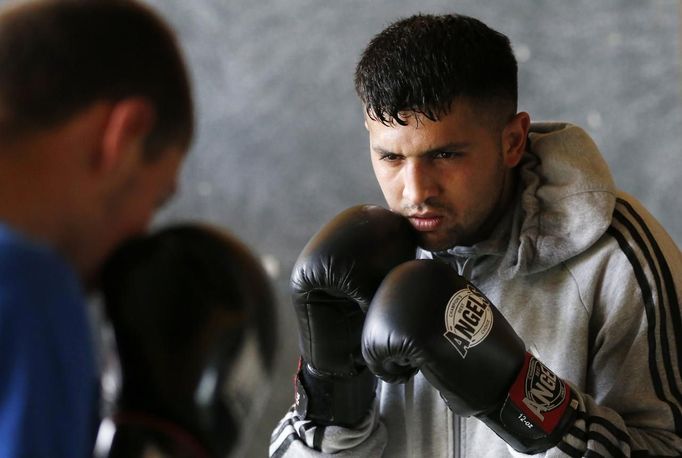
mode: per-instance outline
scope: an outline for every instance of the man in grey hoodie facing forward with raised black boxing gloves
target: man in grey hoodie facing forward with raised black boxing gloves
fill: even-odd
[[[340,226],[371,240],[355,264],[301,260],[348,285],[390,272],[359,297],[331,290],[367,313],[344,322],[361,335],[345,344],[355,372],[317,370],[339,366],[318,352],[330,334],[305,331],[329,315],[299,318],[307,400],[271,456],[682,454],[680,250],[582,129],[517,111],[507,37],[470,17],[413,16],[374,37],[355,83],[386,213],[411,223],[422,259],[393,257],[409,236],[383,233],[387,216],[357,215]],[[370,255],[395,265],[369,270]],[[311,311],[326,307],[327,277]],[[329,393],[366,371],[390,383],[355,383],[345,397],[363,403],[340,415],[350,404]]]

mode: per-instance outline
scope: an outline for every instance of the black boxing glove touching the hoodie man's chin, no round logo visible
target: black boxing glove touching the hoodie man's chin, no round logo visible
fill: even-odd
[[[341,212],[303,248],[291,275],[302,418],[353,426],[367,415],[376,378],[360,352],[365,312],[384,276],[414,259],[416,243],[405,218],[361,205]]]

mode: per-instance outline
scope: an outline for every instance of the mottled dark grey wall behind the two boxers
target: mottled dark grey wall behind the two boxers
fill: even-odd
[[[253,456],[292,401],[291,266],[340,210],[383,203],[352,74],[375,33],[417,12],[459,12],[507,34],[520,108],[582,125],[619,186],[682,243],[680,3],[675,0],[147,0],[191,65],[198,137],[180,194],[156,223],[228,228],[263,257],[279,300],[281,354]]]

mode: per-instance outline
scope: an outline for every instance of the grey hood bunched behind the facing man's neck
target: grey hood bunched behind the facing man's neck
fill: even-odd
[[[616,188],[608,165],[590,136],[569,123],[534,123],[518,167],[514,204],[491,236],[424,257],[455,262],[465,276],[482,256],[510,279],[550,269],[585,251],[611,224]],[[491,259],[492,258],[492,259]],[[483,267],[483,266],[481,266]],[[473,269],[473,272],[467,270]],[[486,268],[487,270],[487,268]]]

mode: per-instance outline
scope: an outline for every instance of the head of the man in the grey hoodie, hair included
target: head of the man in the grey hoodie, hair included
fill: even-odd
[[[530,119],[506,36],[460,15],[417,15],[374,37],[355,72],[372,165],[423,248],[485,238],[514,188]]]

